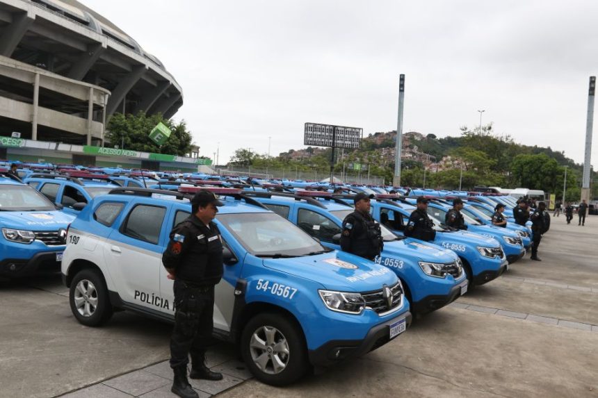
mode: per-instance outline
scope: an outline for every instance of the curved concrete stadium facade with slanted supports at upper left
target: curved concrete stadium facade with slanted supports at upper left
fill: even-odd
[[[0,135],[102,145],[113,113],[175,115],[156,57],[75,0],[0,0]]]

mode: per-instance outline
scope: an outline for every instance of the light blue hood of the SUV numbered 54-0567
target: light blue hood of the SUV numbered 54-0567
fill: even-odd
[[[328,290],[369,292],[394,285],[394,272],[365,258],[341,251],[293,258],[266,258],[264,267],[320,283]]]

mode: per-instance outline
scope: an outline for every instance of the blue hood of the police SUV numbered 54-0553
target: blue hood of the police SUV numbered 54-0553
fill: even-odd
[[[407,258],[430,263],[452,263],[458,258],[451,250],[411,238],[384,242],[382,256],[393,256],[401,259]]]

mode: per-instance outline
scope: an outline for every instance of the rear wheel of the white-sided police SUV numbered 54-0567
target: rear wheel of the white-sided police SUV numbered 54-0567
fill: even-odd
[[[101,326],[113,314],[104,277],[97,270],[81,270],[74,276],[69,303],[79,323],[86,326]]]

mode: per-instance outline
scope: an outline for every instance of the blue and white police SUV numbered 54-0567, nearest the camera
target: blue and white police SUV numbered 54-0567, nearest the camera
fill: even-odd
[[[197,189],[117,188],[81,210],[62,263],[79,322],[99,326],[114,308],[173,320],[161,256]],[[410,304],[387,267],[323,247],[241,190],[211,191],[227,194],[214,220],[225,247],[214,334],[240,343],[259,380],[291,383],[310,366],[376,349],[410,324]]]

